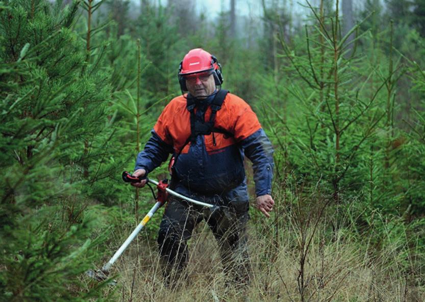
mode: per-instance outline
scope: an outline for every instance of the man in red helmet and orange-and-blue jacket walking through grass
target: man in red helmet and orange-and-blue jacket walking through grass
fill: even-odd
[[[158,243],[170,285],[186,266],[187,241],[203,219],[220,249],[224,272],[238,284],[249,281],[246,247],[248,194],[243,154],[253,162],[256,206],[267,217],[273,208],[272,147],[257,116],[241,98],[218,90],[223,78],[209,52],[190,50],[180,64],[182,95],[164,108],[136,160],[134,176],[145,176],[173,154],[171,187],[192,199],[220,206],[211,212],[171,199],[160,225]],[[184,94],[188,91],[188,94]],[[146,180],[133,185],[143,187]]]

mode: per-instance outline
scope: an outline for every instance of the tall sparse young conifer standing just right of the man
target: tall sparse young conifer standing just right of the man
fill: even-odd
[[[290,47],[281,38],[285,89],[294,113],[288,121],[292,137],[288,156],[297,177],[310,184],[324,181],[335,203],[340,203],[342,193],[349,195],[366,182],[365,171],[358,167],[385,116],[387,79],[370,88],[376,71],[362,65],[365,58],[356,52],[364,36],[358,33],[359,24],[342,36],[338,1],[331,12],[320,3],[313,8],[307,2],[312,24],[305,26],[304,41],[296,38]],[[348,41],[353,33],[356,38]]]

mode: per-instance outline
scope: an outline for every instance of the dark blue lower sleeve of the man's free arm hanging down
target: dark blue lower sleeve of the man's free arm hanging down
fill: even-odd
[[[271,194],[273,178],[273,148],[262,128],[241,142],[245,156],[253,163],[255,193],[258,196]]]

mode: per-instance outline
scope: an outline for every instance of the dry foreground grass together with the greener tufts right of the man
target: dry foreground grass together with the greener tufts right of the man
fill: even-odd
[[[303,200],[298,200],[281,208],[278,233],[276,219],[251,219],[253,279],[244,292],[224,284],[217,243],[202,223],[189,242],[187,274],[179,280],[177,289],[163,285],[156,242],[141,234],[114,265],[114,272],[119,273],[114,300],[425,301],[423,255],[411,256],[407,235],[399,231],[403,228],[398,228],[395,236],[394,224],[390,226],[382,219],[379,230],[370,226],[361,234],[348,215],[337,221],[320,213],[320,207],[327,203],[315,205],[316,209],[306,210]],[[117,240],[111,250],[121,242]]]

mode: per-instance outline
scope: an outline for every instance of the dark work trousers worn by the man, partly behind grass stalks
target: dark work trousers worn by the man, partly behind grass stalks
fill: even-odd
[[[232,199],[218,195],[190,196],[199,201],[218,205],[215,210],[177,198],[172,198],[168,202],[159,229],[158,244],[165,282],[170,287],[176,285],[182,276],[188,261],[188,240],[195,226],[203,220],[217,240],[228,284],[234,283],[236,287],[243,287],[249,283],[251,265],[246,237],[249,204],[247,200],[241,200],[237,195],[228,196],[232,196]]]

